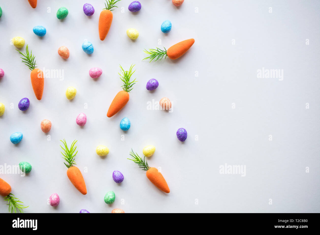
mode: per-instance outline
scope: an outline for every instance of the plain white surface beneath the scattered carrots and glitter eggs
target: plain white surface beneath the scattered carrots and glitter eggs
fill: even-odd
[[[82,9],[87,2],[95,8],[92,17]],[[320,212],[319,2],[186,0],[176,8],[170,0],[141,0],[138,13],[128,11],[131,2],[117,4],[104,41],[98,34],[103,0],[39,0],[36,9],[27,0],[0,3],[0,67],[5,72],[0,102],[6,108],[0,117],[0,165],[20,161],[32,165],[26,177],[0,177],[29,205],[25,212],[109,213],[114,208],[126,213]],[[61,6],[69,10],[65,20],[56,18]],[[164,20],[172,22],[169,34],[160,30]],[[46,27],[43,38],[33,33],[36,25]],[[136,41],[126,35],[130,27],[140,33]],[[14,36],[25,38],[39,68],[64,70],[63,81],[46,78],[41,101],[33,93],[30,71],[10,45]],[[141,60],[144,48],[169,48],[188,38],[195,43],[178,60]],[[91,56],[82,51],[85,39],[93,43]],[[57,53],[62,45],[70,51],[68,60]],[[124,109],[107,118],[108,107],[121,90],[118,65],[128,69],[132,63],[139,82]],[[103,70],[97,81],[88,75],[91,67]],[[257,78],[262,67],[284,69],[284,80]],[[145,88],[151,78],[159,81],[154,92]],[[68,86],[77,89],[72,101],[65,97]],[[18,109],[24,97],[30,99],[26,112]],[[147,110],[148,101],[162,97],[171,99],[172,113]],[[87,115],[83,128],[76,125],[81,112]],[[131,121],[127,132],[119,128],[124,117]],[[52,122],[50,141],[40,129],[43,119]],[[180,127],[188,131],[184,143],[175,134]],[[23,133],[19,145],[9,140],[16,131]],[[69,144],[78,140],[76,163],[87,195],[67,178],[59,146],[63,138]],[[100,144],[110,149],[106,158],[95,153]],[[161,167],[169,194],[159,191],[145,172],[127,160],[131,148],[141,156],[145,145],[156,146],[148,163]],[[220,174],[219,166],[225,163],[246,165],[246,176]],[[112,180],[116,169],[124,174],[122,184]],[[110,190],[116,193],[116,201],[107,205],[103,198]],[[56,208],[47,205],[52,193],[60,196]],[[0,211],[7,212],[4,202]]]

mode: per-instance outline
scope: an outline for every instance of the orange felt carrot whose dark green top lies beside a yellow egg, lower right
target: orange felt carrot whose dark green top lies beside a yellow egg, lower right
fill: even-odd
[[[157,168],[149,167],[148,162],[145,161],[145,157],[142,160],[142,158],[139,157],[138,153],[135,153],[135,154],[133,153],[132,149],[131,149],[130,155],[132,156],[132,159],[131,158],[127,158],[127,159],[134,161],[139,165],[140,168],[142,168],[142,170],[145,170],[146,175],[152,184],[156,185],[156,187],[163,192],[166,192],[166,193],[170,192],[167,182],[165,181],[161,172],[159,172]]]

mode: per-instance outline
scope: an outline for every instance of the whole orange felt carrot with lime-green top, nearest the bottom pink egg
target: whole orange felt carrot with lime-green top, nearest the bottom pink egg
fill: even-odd
[[[71,183],[76,187],[77,190],[79,190],[79,192],[81,192],[82,194],[87,194],[87,188],[85,186],[84,183],[84,178],[81,174],[81,171],[79,170],[79,168],[73,166],[76,165],[75,162],[75,156],[78,153],[78,151],[75,153],[76,151],[76,142],[77,140],[74,140],[70,146],[70,149],[68,148],[67,142],[65,139],[60,140],[63,145],[64,148],[60,145],[60,147],[63,149],[64,153],[62,153],[63,155],[63,159],[67,161],[67,164],[64,163],[66,165],[66,167],[68,167],[67,170],[67,176],[69,178],[69,180],[71,181]]]

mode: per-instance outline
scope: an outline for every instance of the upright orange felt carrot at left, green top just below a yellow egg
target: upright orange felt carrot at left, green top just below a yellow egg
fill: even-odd
[[[17,49],[16,49],[17,50]],[[43,94],[43,87],[44,87],[44,76],[41,69],[36,68],[36,60],[35,56],[32,55],[32,51],[29,53],[28,45],[26,46],[26,54],[23,54],[21,51],[17,50],[23,57],[22,63],[25,63],[28,68],[31,70],[30,78],[31,84],[33,88],[33,92],[36,95],[36,98],[40,100]]]

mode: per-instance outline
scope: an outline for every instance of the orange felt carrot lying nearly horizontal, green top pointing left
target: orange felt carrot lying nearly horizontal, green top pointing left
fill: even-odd
[[[162,59],[164,56],[164,59],[168,56],[170,59],[178,59],[180,56],[182,56],[184,53],[186,53],[189,48],[193,45],[195,40],[193,38],[184,40],[180,43],[174,44],[173,46],[169,47],[168,50],[164,48],[164,50],[161,50],[156,47],[156,49],[149,49],[149,51],[144,50],[145,53],[149,54],[150,56],[144,58],[144,59],[150,59],[150,62],[153,59]],[[143,59],[143,60],[144,60]]]

